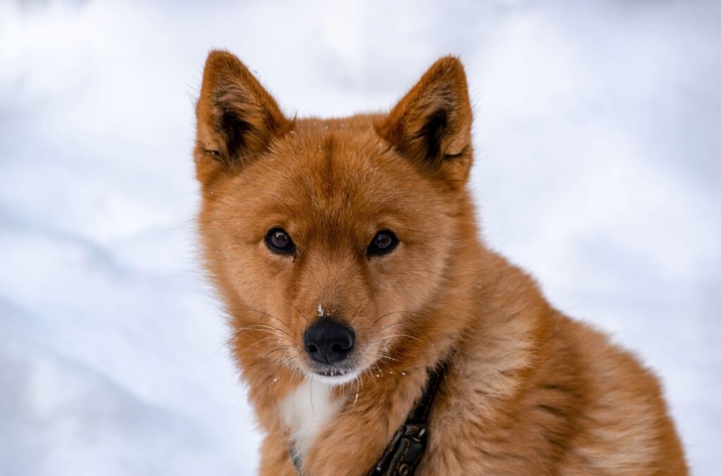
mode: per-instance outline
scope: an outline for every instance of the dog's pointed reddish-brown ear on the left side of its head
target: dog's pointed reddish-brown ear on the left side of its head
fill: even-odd
[[[195,117],[196,172],[204,184],[247,164],[293,127],[244,64],[219,50],[205,61]]]

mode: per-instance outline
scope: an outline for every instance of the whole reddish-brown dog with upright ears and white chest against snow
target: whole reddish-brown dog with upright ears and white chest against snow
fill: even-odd
[[[479,237],[458,58],[389,113],[298,119],[214,50],[196,118],[199,234],[260,474],[374,474],[389,451],[385,474],[686,474],[658,379]]]

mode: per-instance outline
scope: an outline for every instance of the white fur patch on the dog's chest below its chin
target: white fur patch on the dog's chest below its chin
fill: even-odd
[[[280,416],[291,431],[294,449],[301,458],[342,405],[331,389],[328,384],[306,378],[280,403]]]

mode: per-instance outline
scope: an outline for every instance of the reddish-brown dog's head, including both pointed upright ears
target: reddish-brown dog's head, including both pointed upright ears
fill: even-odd
[[[389,115],[291,121],[234,56],[211,53],[200,229],[241,358],[342,383],[423,342],[456,242],[470,121],[454,58]]]

